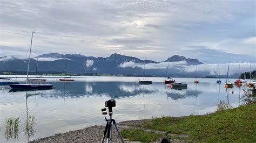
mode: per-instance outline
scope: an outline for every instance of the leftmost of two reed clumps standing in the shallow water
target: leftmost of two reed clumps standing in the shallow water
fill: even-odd
[[[18,129],[19,129],[19,117],[16,118],[5,118],[5,139],[18,138]]]

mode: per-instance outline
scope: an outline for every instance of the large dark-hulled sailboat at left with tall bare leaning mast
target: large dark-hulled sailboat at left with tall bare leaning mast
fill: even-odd
[[[30,42],[30,52],[29,52],[29,62],[28,62],[28,72],[26,74],[26,84],[9,84],[11,88],[14,89],[43,89],[43,88],[53,88],[52,84],[31,84],[29,83],[29,63],[30,63],[30,55],[31,55],[31,47],[32,47],[32,40],[33,40],[33,33]]]

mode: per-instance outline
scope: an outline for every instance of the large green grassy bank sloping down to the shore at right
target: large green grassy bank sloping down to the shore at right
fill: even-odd
[[[154,118],[144,123],[143,126],[159,131],[187,134],[195,141],[255,142],[255,117],[256,104],[252,104],[203,116]],[[136,133],[131,137],[134,135]]]

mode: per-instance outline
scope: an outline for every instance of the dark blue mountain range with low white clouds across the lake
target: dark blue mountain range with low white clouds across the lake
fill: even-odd
[[[84,73],[100,73],[100,74],[114,74],[114,75],[143,75],[143,68],[145,67],[145,74],[152,76],[164,76],[166,73],[166,66],[157,67],[157,65],[164,65],[165,62],[175,63],[180,65],[199,65],[202,64],[198,59],[185,58],[184,56],[173,55],[165,61],[157,62],[152,60],[140,60],[132,56],[125,56],[120,54],[111,54],[109,57],[93,57],[80,54],[58,54],[49,53],[36,56],[30,60],[30,71],[58,71],[64,72],[66,61],[66,72],[74,74]],[[163,64],[161,64],[163,63]],[[28,66],[28,59],[18,59],[13,56],[0,56],[0,71],[26,71]],[[151,67],[149,67],[151,66]],[[177,69],[172,69],[175,71]],[[179,73],[177,71],[176,73]],[[178,75],[177,75],[178,76]]]

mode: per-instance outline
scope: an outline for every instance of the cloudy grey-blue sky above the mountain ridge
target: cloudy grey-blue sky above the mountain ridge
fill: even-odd
[[[256,1],[0,1],[0,56],[45,53],[256,63]]]

